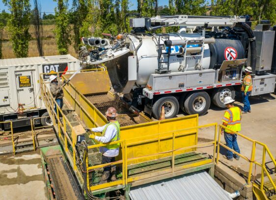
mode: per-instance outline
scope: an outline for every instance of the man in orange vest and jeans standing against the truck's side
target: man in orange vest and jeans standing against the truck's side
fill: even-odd
[[[251,67],[247,67],[245,69],[246,76],[244,77],[243,85],[242,85],[242,95],[243,95],[243,101],[244,101],[243,114],[247,112],[251,112],[250,103],[248,100],[248,96],[252,91],[252,77],[250,75],[251,72],[252,72]]]

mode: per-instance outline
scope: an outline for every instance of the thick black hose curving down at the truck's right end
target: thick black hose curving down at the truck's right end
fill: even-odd
[[[255,40],[254,33],[253,33],[251,27],[244,22],[237,23],[236,26],[243,28],[248,34],[248,40],[249,40],[249,44],[250,44],[250,67],[252,68],[251,75],[255,75],[256,61],[257,61],[257,49],[256,49],[256,40]]]

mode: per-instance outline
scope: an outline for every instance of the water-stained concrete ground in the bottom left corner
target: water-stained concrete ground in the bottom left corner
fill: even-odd
[[[47,200],[40,153],[0,155],[2,200]]]

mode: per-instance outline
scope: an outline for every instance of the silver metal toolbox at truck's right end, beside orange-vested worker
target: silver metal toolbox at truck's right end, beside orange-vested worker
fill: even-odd
[[[251,96],[272,93],[275,90],[276,75],[256,75],[252,78],[253,89]]]

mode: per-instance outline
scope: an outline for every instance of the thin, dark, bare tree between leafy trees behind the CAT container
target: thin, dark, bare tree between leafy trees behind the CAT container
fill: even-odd
[[[37,0],[33,0],[34,9],[33,9],[33,25],[34,25],[34,35],[36,38],[37,50],[39,56],[43,56],[43,46],[42,46],[42,38],[43,38],[43,26],[40,17],[40,5],[38,5]],[[38,8],[39,6],[39,8]]]

